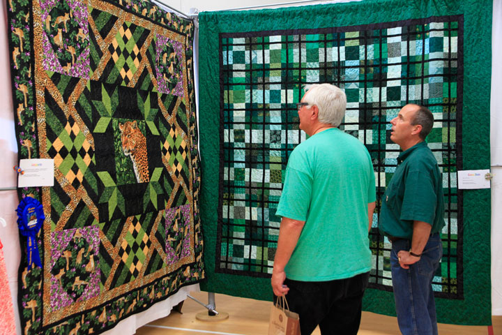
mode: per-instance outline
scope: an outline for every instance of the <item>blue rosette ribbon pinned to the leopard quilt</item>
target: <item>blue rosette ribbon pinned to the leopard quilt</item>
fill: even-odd
[[[43,221],[45,220],[43,206],[38,200],[26,197],[21,200],[16,211],[17,227],[21,234],[28,239],[26,248],[28,251],[28,269],[31,269],[32,263],[35,263],[38,267],[42,267],[40,253],[38,253],[36,235],[40,231],[40,228],[42,228]]]

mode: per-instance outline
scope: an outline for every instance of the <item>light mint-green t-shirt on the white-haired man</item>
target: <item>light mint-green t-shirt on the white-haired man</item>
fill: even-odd
[[[370,271],[367,204],[374,201],[372,161],[356,137],[330,128],[298,144],[277,206],[277,215],[305,221],[287,278],[332,281]]]

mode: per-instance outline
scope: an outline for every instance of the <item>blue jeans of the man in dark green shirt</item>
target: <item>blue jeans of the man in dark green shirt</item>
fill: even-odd
[[[437,335],[436,304],[432,291],[432,278],[443,256],[439,234],[432,234],[418,262],[403,269],[397,260],[399,251],[409,251],[411,241],[393,242],[390,253],[397,323],[402,334]]]

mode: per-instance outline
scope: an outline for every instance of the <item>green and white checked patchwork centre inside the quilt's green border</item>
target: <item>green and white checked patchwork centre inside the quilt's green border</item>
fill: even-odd
[[[275,215],[287,160],[305,140],[296,103],[305,84],[330,82],[347,94],[340,128],[365,144],[374,164],[377,198],[392,177],[400,148],[389,121],[406,103],[434,114],[427,137],[443,172],[446,226],[434,290],[462,295],[461,161],[462,25],[455,16],[377,26],[220,34],[220,207],[216,271],[270,276],[280,217]],[[390,241],[370,232],[370,286],[389,290]]]

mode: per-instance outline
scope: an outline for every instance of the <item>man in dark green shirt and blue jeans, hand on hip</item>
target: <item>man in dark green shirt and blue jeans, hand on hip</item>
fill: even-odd
[[[432,278],[443,255],[443,178],[425,137],[432,113],[419,105],[402,107],[390,123],[390,140],[402,153],[383,195],[379,230],[392,241],[390,265],[402,334],[437,334]]]

